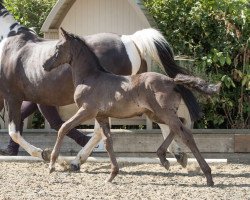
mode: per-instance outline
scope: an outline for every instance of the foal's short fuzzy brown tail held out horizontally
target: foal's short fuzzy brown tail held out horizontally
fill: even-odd
[[[174,82],[176,84],[185,85],[185,87],[189,87],[190,89],[195,89],[198,92],[201,92],[203,94],[212,95],[212,94],[218,94],[220,92],[221,83],[218,84],[208,84],[205,80],[184,75],[184,74],[177,74],[174,78]]]

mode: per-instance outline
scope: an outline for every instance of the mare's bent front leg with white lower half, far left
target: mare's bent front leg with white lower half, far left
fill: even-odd
[[[23,147],[31,156],[42,158],[42,149],[28,143],[20,134],[21,101],[6,100],[9,115],[9,135],[12,140]]]

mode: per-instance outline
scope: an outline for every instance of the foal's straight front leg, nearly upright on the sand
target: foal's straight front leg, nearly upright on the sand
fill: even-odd
[[[109,126],[109,119],[102,118],[97,119],[102,129],[102,139],[105,145],[105,148],[108,152],[110,162],[111,162],[111,173],[109,177],[106,179],[107,182],[111,182],[119,173],[119,166],[115,157],[114,149],[113,149],[113,141],[110,134],[110,126]]]

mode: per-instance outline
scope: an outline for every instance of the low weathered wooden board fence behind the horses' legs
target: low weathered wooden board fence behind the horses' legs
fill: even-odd
[[[89,129],[81,131],[84,134],[93,132],[93,130]],[[249,129],[193,129],[192,132],[200,151],[203,153],[250,153]],[[43,149],[53,147],[56,140],[54,130],[27,129],[24,131],[23,136],[31,144]],[[160,129],[112,129],[112,136],[115,152],[126,155],[155,153],[163,141]],[[6,146],[8,140],[7,130],[0,130],[0,146]],[[61,152],[65,155],[76,155],[80,148],[73,140],[65,137]],[[184,149],[189,152],[189,149],[185,147]],[[102,143],[99,144],[95,151],[104,151]]]

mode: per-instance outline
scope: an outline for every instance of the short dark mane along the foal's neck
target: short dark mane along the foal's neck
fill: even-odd
[[[100,63],[99,59],[97,58],[97,56],[95,55],[95,53],[93,52],[93,50],[90,48],[90,46],[86,43],[85,39],[83,37],[79,37],[73,33],[68,33],[68,35],[77,40],[80,44],[81,44],[81,48],[85,51],[85,49],[87,49],[87,51],[90,52],[91,56],[94,58],[96,64],[97,64],[97,67],[99,70],[101,70],[102,72],[105,72],[105,73],[111,73],[109,71],[107,71]]]

